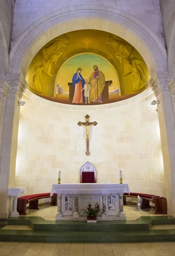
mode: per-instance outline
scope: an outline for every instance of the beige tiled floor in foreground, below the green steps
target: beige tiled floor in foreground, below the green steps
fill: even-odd
[[[45,244],[0,242],[0,256],[175,256],[175,242]]]

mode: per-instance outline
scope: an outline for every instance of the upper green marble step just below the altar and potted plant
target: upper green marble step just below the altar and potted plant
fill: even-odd
[[[150,230],[153,225],[175,224],[171,216],[145,216],[135,221],[46,221],[41,217],[8,218],[8,225],[28,225],[33,230],[41,231],[134,231]]]

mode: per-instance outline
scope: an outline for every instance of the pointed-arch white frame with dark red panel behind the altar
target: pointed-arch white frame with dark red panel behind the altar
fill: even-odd
[[[96,169],[87,162],[80,170],[80,183],[96,183]]]

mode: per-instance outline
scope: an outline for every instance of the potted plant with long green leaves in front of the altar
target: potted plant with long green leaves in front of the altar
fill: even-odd
[[[94,208],[91,207],[91,204],[88,204],[87,210],[83,209],[82,211],[84,211],[82,215],[87,216],[87,222],[96,222],[97,216],[101,214],[106,215],[105,211],[103,209],[100,209],[100,206],[98,203],[96,203]]]

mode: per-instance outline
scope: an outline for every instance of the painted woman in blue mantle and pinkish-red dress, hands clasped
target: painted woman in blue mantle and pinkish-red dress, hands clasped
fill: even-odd
[[[83,79],[82,75],[82,68],[79,67],[77,69],[77,72],[73,75],[72,83],[74,88],[74,94],[73,94],[73,101],[72,103],[83,103],[84,99],[84,92],[82,92],[82,89],[85,85],[85,79]]]

